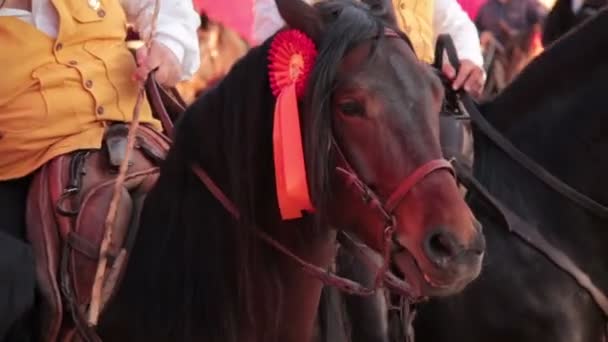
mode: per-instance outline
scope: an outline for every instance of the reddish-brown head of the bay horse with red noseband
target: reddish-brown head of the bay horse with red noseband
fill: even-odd
[[[334,226],[379,252],[396,251],[394,265],[417,295],[451,294],[479,274],[485,242],[440,162],[443,88],[408,38],[395,33],[391,2],[364,3],[277,0],[288,26],[319,46],[303,103],[313,198],[320,210],[330,208],[322,214]],[[327,160],[346,177],[321,164]]]

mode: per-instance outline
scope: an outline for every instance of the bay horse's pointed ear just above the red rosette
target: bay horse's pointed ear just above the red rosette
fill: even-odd
[[[275,0],[281,17],[291,28],[306,33],[318,42],[323,23],[317,9],[302,0]]]

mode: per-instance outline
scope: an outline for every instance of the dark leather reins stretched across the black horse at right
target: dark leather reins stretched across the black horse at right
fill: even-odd
[[[456,68],[456,70],[458,70],[458,67],[460,66],[459,59],[456,55],[454,43],[449,36],[440,36],[437,40],[436,67],[442,65],[444,52],[447,54],[449,62]],[[544,167],[536,163],[521,150],[515,147],[485,119],[485,117],[479,112],[479,109],[477,108],[473,99],[468,94],[465,92],[458,93],[458,102],[461,111],[468,113],[471,121],[476,125],[478,130],[517,164],[524,167],[536,178],[563,197],[567,198],[572,203],[592,213],[600,219],[608,219],[608,207],[598,203],[587,195],[562,182]],[[608,319],[608,296],[606,293],[604,293],[604,291],[595,285],[589,274],[583,271],[582,268],[578,266],[562,250],[545,239],[542,234],[538,232],[538,230],[535,229],[529,222],[511,211],[500,200],[490,194],[490,192],[477,179],[474,178],[468,169],[457,161],[453,162],[453,164],[459,181],[461,181],[465,187],[475,190],[476,193],[481,195],[481,197],[484,198],[487,203],[489,203],[500,214],[500,216],[502,216],[509,232],[513,233],[527,245],[537,250],[551,263],[574,279],[582,289],[587,291],[598,308]],[[606,332],[608,332],[608,326],[606,329]]]

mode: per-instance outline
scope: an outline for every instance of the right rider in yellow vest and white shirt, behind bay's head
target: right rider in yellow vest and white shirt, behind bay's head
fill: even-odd
[[[314,0],[306,0],[311,3]],[[443,71],[453,79],[454,89],[464,89],[479,96],[485,82],[483,57],[475,25],[456,0],[393,0],[400,29],[408,34],[418,57],[432,63],[434,41],[439,34],[449,33],[461,58],[458,75],[449,63]],[[274,0],[254,1],[253,35],[260,43],[283,24]]]

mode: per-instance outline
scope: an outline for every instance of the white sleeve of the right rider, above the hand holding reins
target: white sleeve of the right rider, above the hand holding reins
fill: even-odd
[[[436,0],[433,15],[435,34],[449,34],[454,40],[460,59],[483,66],[479,33],[469,15],[456,0]]]

